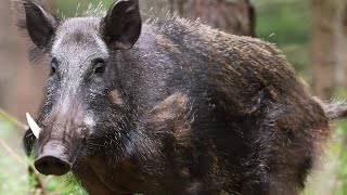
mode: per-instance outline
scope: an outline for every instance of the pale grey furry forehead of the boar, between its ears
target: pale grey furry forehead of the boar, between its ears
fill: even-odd
[[[62,74],[74,73],[76,77],[89,68],[92,60],[108,57],[99,29],[98,17],[69,18],[57,27],[51,55],[63,66]]]

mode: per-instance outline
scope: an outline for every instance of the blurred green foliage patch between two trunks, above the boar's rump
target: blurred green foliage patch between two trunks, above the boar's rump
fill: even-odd
[[[307,42],[310,12],[308,1],[256,1],[257,36],[279,46]],[[273,36],[270,36],[274,34]]]

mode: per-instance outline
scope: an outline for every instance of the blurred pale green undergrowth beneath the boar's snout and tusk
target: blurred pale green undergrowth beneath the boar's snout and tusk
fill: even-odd
[[[44,177],[35,172],[33,160],[22,150],[24,130],[13,121],[0,110],[0,195],[87,194],[70,174]]]

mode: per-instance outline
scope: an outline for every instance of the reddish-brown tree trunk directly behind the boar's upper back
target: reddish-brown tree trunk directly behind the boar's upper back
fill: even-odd
[[[254,8],[249,0],[145,0],[149,10],[163,17],[167,11],[192,20],[200,18],[214,28],[255,36]]]

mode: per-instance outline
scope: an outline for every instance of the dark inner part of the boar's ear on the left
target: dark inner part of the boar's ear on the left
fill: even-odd
[[[54,35],[57,23],[55,17],[31,0],[24,0],[23,5],[25,20],[20,27],[26,28],[29,38],[39,49],[46,48]]]

